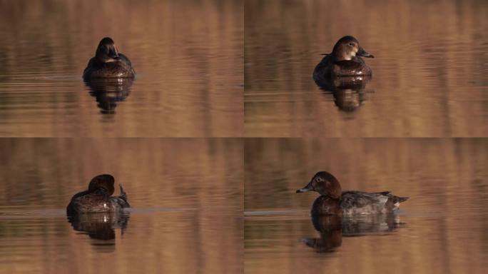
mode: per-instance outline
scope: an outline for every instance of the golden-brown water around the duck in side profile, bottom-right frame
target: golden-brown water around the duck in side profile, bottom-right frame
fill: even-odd
[[[488,141],[248,139],[245,273],[484,273]],[[343,190],[410,196],[400,213],[312,223],[317,171]]]

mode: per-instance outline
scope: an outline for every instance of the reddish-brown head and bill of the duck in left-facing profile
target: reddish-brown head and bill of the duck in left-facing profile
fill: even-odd
[[[323,196],[329,196],[330,198],[340,199],[342,189],[337,179],[327,171],[320,171],[313,176],[310,183],[305,188],[300,188],[296,193],[316,191]]]

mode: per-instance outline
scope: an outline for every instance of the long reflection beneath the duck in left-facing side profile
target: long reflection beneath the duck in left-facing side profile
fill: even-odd
[[[318,253],[334,252],[342,245],[342,236],[377,235],[391,233],[405,223],[395,214],[372,215],[312,215],[312,224],[320,238],[304,238],[305,245]]]

